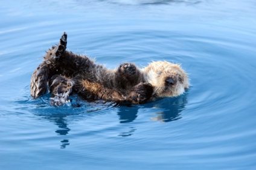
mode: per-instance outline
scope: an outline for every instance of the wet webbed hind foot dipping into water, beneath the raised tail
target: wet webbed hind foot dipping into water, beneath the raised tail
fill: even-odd
[[[51,105],[61,106],[69,102],[69,95],[72,93],[72,87],[75,83],[67,77],[54,75],[50,79],[50,92],[53,94]]]

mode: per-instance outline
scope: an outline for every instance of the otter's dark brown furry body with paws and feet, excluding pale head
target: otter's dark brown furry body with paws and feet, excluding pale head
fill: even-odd
[[[53,105],[62,105],[69,95],[77,93],[87,100],[111,100],[115,102],[145,103],[153,94],[153,87],[144,80],[135,64],[124,63],[115,70],[84,55],[66,50],[67,35],[60,43],[46,52],[43,62],[36,68],[30,83],[31,96],[45,94],[47,85],[53,94]]]

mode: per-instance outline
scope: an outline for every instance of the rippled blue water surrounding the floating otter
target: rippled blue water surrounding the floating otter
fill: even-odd
[[[256,2],[0,1],[0,169],[256,169]],[[30,97],[45,50],[115,68],[181,63],[185,94],[145,105]],[[80,105],[80,107],[76,107]]]

